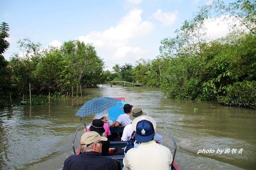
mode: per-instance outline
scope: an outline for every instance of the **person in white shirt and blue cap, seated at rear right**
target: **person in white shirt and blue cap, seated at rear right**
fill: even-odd
[[[128,150],[123,160],[123,170],[169,170],[172,163],[170,149],[153,140],[156,121],[149,116],[144,116],[143,120],[137,117],[132,127],[136,131],[136,140],[141,144]]]

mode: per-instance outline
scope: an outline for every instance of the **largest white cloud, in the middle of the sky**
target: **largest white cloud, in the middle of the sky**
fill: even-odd
[[[142,21],[142,10],[132,10],[124,16],[116,27],[104,31],[91,31],[86,36],[77,39],[85,43],[92,42],[95,47],[119,47],[127,44],[131,39],[141,35],[148,35],[154,29],[154,24]]]

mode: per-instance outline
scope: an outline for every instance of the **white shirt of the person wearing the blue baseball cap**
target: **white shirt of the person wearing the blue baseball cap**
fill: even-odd
[[[131,170],[169,170],[172,163],[170,149],[155,141],[141,143],[138,148],[132,148],[126,153],[124,167]]]

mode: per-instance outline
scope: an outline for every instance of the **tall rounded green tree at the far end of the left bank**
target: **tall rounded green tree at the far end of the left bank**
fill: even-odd
[[[92,44],[80,41],[64,42],[61,53],[68,61],[69,71],[74,78],[73,84],[80,83],[90,87],[102,81],[104,63]]]

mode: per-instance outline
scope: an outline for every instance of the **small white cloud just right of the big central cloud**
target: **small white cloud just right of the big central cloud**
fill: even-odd
[[[164,25],[172,25],[177,19],[178,11],[162,13],[161,9],[158,9],[152,17],[160,21]]]

